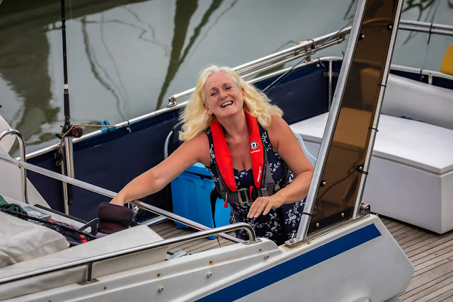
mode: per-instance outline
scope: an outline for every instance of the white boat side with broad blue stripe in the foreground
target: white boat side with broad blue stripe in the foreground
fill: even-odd
[[[238,243],[17,301],[386,301],[406,290],[412,274],[408,257],[370,215],[297,248]]]

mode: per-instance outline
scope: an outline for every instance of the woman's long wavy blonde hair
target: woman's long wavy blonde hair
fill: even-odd
[[[180,120],[183,120],[184,124],[182,131],[179,132],[179,139],[181,141],[188,141],[193,139],[202,131],[205,131],[210,127],[211,121],[214,118],[209,115],[203,106],[206,101],[204,93],[205,83],[207,78],[214,74],[214,72],[224,71],[230,74],[234,82],[239,88],[243,88],[246,95],[246,99],[243,102],[244,110],[248,109],[253,117],[258,119],[258,122],[265,128],[268,129],[270,120],[273,117],[282,117],[283,112],[276,105],[270,103],[269,98],[255,86],[246,83],[236,71],[226,66],[207,66],[202,69],[197,77],[197,86],[192,96],[190,96],[188,104],[185,106],[180,114]]]

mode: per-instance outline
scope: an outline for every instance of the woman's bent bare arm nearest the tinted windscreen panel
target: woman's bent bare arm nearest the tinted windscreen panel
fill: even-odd
[[[299,202],[309,191],[313,166],[306,158],[302,147],[294,136],[287,122],[275,117],[268,129],[270,144],[294,174],[294,180],[272,196],[259,197],[248,211],[248,218],[266,215],[270,209],[281,207],[282,204]]]

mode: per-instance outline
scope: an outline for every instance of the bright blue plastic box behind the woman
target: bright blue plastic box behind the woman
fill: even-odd
[[[210,196],[214,188],[212,175],[201,163],[195,163],[171,182],[173,213],[214,228]],[[217,198],[215,207],[216,226],[229,224],[230,207],[224,207],[224,201]],[[187,228],[176,222],[177,228]],[[210,236],[210,239],[215,236]]]

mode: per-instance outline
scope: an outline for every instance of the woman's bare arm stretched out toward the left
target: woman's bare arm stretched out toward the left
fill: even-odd
[[[110,203],[122,206],[132,200],[158,192],[195,163],[210,164],[209,141],[205,133],[185,141],[159,165],[131,180]]]

